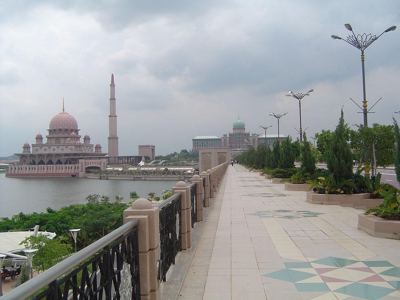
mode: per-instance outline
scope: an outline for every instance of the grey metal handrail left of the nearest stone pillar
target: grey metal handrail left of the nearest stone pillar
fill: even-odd
[[[59,262],[55,266],[52,266],[50,269],[47,269],[43,273],[40,273],[38,276],[24,282],[20,286],[14,288],[14,290],[4,294],[1,297],[1,300],[26,300],[34,293],[38,292],[40,289],[48,286],[51,282],[54,282],[55,279],[61,277],[65,273],[69,272],[72,268],[78,266],[81,262],[84,262],[86,258],[92,256],[99,250],[102,250],[105,246],[110,244],[110,242],[116,240],[132,228],[138,226],[139,219],[134,219],[116,230],[110,232],[106,236],[103,236],[93,244],[83,248],[77,253],[69,256],[63,261]]]

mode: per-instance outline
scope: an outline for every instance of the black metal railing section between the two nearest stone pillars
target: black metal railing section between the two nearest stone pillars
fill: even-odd
[[[157,205],[160,208],[160,280],[166,281],[166,274],[175,257],[182,250],[182,196],[176,193]]]

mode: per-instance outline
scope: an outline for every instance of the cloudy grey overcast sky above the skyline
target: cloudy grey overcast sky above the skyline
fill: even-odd
[[[22,152],[47,134],[62,108],[83,136],[107,152],[110,77],[114,73],[119,154],[138,144],[156,155],[192,147],[194,136],[277,122],[296,139],[334,130],[344,106],[349,124],[362,123],[360,50],[345,38],[379,35],[400,25],[398,0],[369,1],[6,1],[0,4],[0,156]],[[365,51],[368,123],[400,115],[400,28]],[[310,138],[309,138],[310,139]]]

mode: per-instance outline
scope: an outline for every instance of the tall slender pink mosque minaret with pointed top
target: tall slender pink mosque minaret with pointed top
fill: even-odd
[[[111,74],[110,115],[108,116],[108,156],[118,156],[117,115],[115,109],[115,100],[114,74]],[[110,158],[109,162],[111,164],[115,163],[115,158]]]

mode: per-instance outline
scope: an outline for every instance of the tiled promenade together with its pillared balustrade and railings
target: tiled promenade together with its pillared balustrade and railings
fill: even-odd
[[[140,294],[146,300],[400,297],[400,242],[358,230],[363,210],[311,204],[306,192],[287,191],[284,184],[228,163],[193,176],[191,183],[178,182],[173,191],[154,208],[137,200],[124,212],[120,232],[5,294],[4,300],[26,299],[48,284],[56,291],[56,278],[92,253],[101,255],[86,262],[97,268],[91,275],[83,268],[88,276],[82,289],[98,298],[105,293],[121,299]],[[109,246],[113,240],[117,244]],[[57,299],[68,294],[78,299],[74,276],[61,280],[66,284]]]

